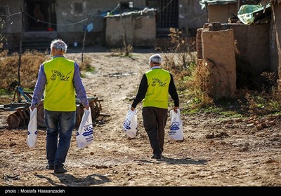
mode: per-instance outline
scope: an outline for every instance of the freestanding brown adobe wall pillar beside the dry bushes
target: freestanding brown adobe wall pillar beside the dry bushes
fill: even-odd
[[[235,97],[236,60],[233,29],[202,31],[202,56],[209,62],[211,96]]]

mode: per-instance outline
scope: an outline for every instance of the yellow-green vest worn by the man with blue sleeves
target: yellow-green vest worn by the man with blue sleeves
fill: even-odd
[[[44,109],[48,111],[76,111],[73,84],[74,61],[55,57],[44,62],[46,87]]]

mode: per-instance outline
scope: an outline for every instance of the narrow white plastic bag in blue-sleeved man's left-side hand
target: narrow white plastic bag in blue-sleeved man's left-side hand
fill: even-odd
[[[30,122],[27,128],[27,146],[35,148],[37,143],[37,108],[30,109]]]

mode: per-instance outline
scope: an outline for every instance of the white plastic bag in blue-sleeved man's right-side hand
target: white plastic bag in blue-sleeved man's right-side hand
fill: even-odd
[[[85,148],[93,143],[93,122],[91,116],[91,107],[84,109],[81,123],[77,130],[76,141],[78,148]]]

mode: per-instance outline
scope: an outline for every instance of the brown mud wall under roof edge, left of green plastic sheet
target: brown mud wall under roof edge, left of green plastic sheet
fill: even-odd
[[[228,3],[226,5],[209,5],[207,6],[208,22],[227,23],[228,18],[237,15],[237,4]]]

